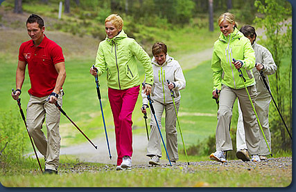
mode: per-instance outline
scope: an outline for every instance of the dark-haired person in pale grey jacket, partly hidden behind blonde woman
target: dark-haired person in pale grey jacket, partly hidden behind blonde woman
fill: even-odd
[[[253,68],[253,74],[256,81],[256,100],[255,100],[255,109],[256,113],[258,114],[259,121],[262,125],[264,135],[268,142],[269,148],[271,149],[271,135],[270,135],[270,128],[268,123],[268,111],[269,111],[269,104],[271,102],[271,96],[268,93],[268,90],[265,88],[263,84],[262,77],[260,73],[265,75],[266,83],[269,86],[268,75],[272,75],[277,71],[277,65],[272,58],[272,54],[270,51],[259,45],[256,44],[256,31],[255,28],[249,25],[243,26],[240,29],[243,32],[243,35],[250,39],[252,47],[255,51],[256,57],[256,67]],[[270,87],[270,86],[269,86]],[[245,130],[243,126],[243,117],[241,114],[241,108],[238,104],[238,124],[236,129],[236,156],[241,160],[249,160],[249,156],[247,153],[247,146],[245,144]],[[267,160],[267,155],[270,155],[270,151],[268,150],[268,146],[264,140],[263,134],[261,131],[260,133],[260,152],[259,158],[260,160]]]

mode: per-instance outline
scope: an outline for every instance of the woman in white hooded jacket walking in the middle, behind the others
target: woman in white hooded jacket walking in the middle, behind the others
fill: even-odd
[[[171,97],[171,90],[175,95],[175,106],[177,111],[180,106],[180,90],[186,86],[186,81],[182,72],[182,68],[178,61],[168,56],[166,44],[157,42],[153,45],[153,74],[154,84],[151,90],[151,99],[153,99],[153,107],[155,108],[155,116],[159,128],[162,127],[162,113],[165,110],[165,129],[166,129],[166,149],[173,164],[179,159],[177,153],[177,129],[175,107]],[[168,84],[167,82],[170,82]],[[146,113],[148,107],[147,95],[143,93],[142,113]],[[150,138],[147,147],[147,156],[151,158],[149,164],[159,165],[159,158],[162,157],[162,140],[155,122],[155,118],[151,118],[150,122]],[[168,157],[166,157],[168,158]]]

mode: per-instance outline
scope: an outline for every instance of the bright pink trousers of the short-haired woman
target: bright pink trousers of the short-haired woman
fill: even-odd
[[[125,90],[108,88],[115,126],[117,165],[121,164],[123,156],[132,157],[132,111],[134,111],[139,90],[140,86]]]

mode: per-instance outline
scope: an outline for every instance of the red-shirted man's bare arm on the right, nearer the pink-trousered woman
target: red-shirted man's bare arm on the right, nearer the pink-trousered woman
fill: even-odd
[[[60,62],[58,64],[55,64],[55,70],[58,72],[58,78],[55,83],[55,88],[53,89],[53,93],[59,94],[60,89],[62,88],[62,85],[64,84],[64,79],[66,79],[66,69],[64,67],[64,62]],[[49,103],[54,104],[57,101],[57,97],[51,95],[49,99]]]

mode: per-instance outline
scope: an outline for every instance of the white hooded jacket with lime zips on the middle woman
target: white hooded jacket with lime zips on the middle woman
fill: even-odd
[[[171,97],[171,90],[168,88],[168,79],[170,82],[175,84],[175,88],[173,88],[173,93],[175,95],[175,101],[181,99],[180,91],[186,87],[185,77],[182,72],[182,68],[178,61],[176,61],[173,57],[166,55],[166,61],[164,64],[160,66],[157,64],[155,57],[152,59],[153,64],[153,75],[154,75],[154,84],[151,90],[151,99],[153,101],[157,101],[161,104],[170,104],[173,103],[173,99]],[[143,97],[143,104],[148,105],[147,95],[141,92]]]

